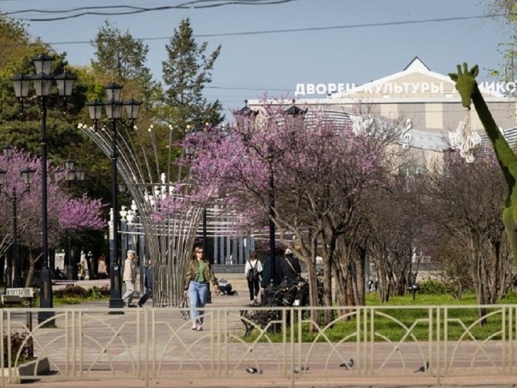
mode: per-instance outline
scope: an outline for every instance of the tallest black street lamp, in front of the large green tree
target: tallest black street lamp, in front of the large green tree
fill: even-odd
[[[35,76],[26,76],[24,74],[17,74],[11,78],[15,88],[15,96],[19,101],[20,110],[23,113],[24,100],[28,97],[30,90],[30,83],[34,84],[35,99],[30,99],[33,103],[40,107],[40,126],[42,144],[42,254],[43,267],[40,270],[40,307],[52,308],[52,280],[51,269],[49,268],[49,227],[47,217],[47,171],[46,171],[46,147],[49,139],[46,136],[46,101],[52,96],[53,81],[58,86],[58,96],[62,97],[66,104],[67,97],[72,95],[73,83],[76,76],[67,74],[65,71],[58,76],[51,76],[51,65],[54,60],[53,56],[41,54],[33,58],[34,67],[36,69]],[[31,103],[29,106],[33,106]],[[37,320],[39,323],[46,321],[53,317],[53,312],[38,312]]]

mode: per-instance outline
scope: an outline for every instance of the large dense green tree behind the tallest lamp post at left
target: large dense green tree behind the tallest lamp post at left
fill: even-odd
[[[32,153],[40,152],[40,110],[37,107],[24,109],[20,115],[11,77],[15,74],[35,74],[33,58],[41,53],[54,56],[52,74],[77,75],[69,66],[66,53],[56,53],[40,40],[34,40],[24,24],[0,15],[0,145],[11,144]],[[54,90],[54,92],[56,92]],[[78,79],[74,93],[67,101],[66,112],[62,101],[47,99],[47,135],[49,137],[49,159],[59,164],[67,158],[69,144],[81,144],[82,136],[74,129],[74,123],[85,106],[85,84]],[[57,93],[54,93],[57,94]],[[28,103],[28,101],[25,101]]]

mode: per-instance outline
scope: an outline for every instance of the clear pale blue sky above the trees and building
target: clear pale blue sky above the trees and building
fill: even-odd
[[[187,2],[191,8],[177,8]],[[265,94],[291,99],[297,84],[360,85],[403,70],[415,56],[441,74],[455,71],[458,63],[477,63],[478,81],[491,81],[489,70],[501,67],[501,51],[514,34],[502,18],[484,17],[487,0],[238,2],[0,0],[0,10],[21,19],[34,37],[66,51],[73,65],[89,65],[94,58],[90,41],[109,19],[148,44],[147,65],[157,81],[161,81],[161,62],[166,60],[165,45],[188,17],[198,43],[207,42],[209,52],[219,44],[222,47],[205,95],[210,101],[219,99],[228,119],[228,112],[242,108],[245,99],[261,99]],[[128,11],[123,6],[142,4],[170,8],[71,17],[88,11]],[[219,6],[200,8],[211,5]],[[82,7],[89,9],[73,11]],[[49,20],[56,17],[64,19]]]

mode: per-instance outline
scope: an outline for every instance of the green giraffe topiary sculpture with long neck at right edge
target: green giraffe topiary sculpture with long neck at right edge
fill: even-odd
[[[496,121],[493,120],[487,103],[477,87],[475,77],[478,73],[477,65],[468,70],[467,64],[464,63],[463,71],[462,67],[457,65],[457,74],[449,74],[449,76],[456,83],[456,89],[462,97],[462,105],[470,109],[471,102],[474,103],[477,115],[480,117],[484,130],[489,137],[493,151],[496,153],[502,174],[505,176],[508,185],[508,196],[505,208],[502,211],[502,222],[505,224],[511,253],[514,255],[514,264],[517,267],[517,158],[505,137],[502,136]]]

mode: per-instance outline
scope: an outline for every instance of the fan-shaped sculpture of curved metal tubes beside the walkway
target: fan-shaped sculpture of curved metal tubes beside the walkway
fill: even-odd
[[[93,127],[79,124],[78,128],[93,140],[105,155],[112,155],[112,137],[105,127],[94,130]],[[169,126],[168,130],[167,160],[170,160],[170,150],[174,146],[172,126]],[[185,190],[189,190],[189,185],[180,182],[182,176],[186,176],[188,180],[189,170],[182,171],[180,162],[174,180],[170,164],[161,169],[153,131],[153,126],[147,131],[148,142],[152,148],[150,154],[143,146],[144,139],[139,132],[132,136],[127,128],[121,130],[116,143],[117,172],[137,205],[145,233],[146,251],[155,271],[152,303],[154,306],[166,307],[182,302],[185,263],[192,252],[195,232],[202,217],[202,207],[175,210],[167,212],[166,217],[157,217],[161,199],[175,201],[182,198]],[[183,192],[178,189],[179,185],[182,186]]]

